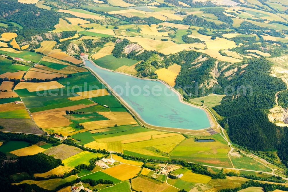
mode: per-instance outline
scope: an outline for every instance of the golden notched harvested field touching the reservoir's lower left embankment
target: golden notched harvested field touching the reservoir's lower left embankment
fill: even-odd
[[[133,125],[137,122],[128,112],[98,112],[99,114],[109,118],[110,120],[90,121],[82,123],[85,129],[94,130],[106,127],[114,127],[114,125]]]

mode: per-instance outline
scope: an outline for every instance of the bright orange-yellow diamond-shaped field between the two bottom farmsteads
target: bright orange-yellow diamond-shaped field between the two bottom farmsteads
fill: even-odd
[[[102,172],[124,181],[137,176],[137,173],[139,173],[140,170],[141,167],[138,166],[120,164],[109,169],[105,169]]]

